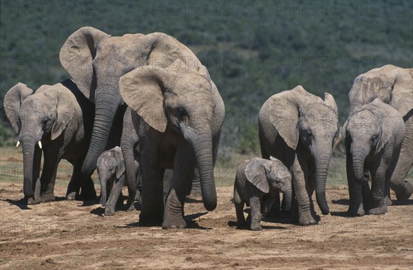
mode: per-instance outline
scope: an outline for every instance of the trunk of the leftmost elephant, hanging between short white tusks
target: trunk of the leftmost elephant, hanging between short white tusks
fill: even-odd
[[[26,198],[33,198],[33,179],[39,177],[41,149],[36,149],[38,141],[30,132],[25,132],[21,136],[24,168],[23,192]],[[35,163],[35,166],[33,163]]]

